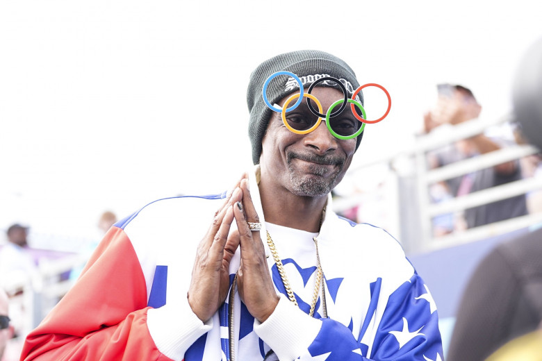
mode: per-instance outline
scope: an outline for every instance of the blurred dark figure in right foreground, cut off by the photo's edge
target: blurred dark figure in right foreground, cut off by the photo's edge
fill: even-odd
[[[542,39],[527,52],[514,85],[514,117],[526,140],[542,150],[541,69]],[[480,262],[459,303],[446,360],[542,360],[541,328],[538,229],[498,244]]]

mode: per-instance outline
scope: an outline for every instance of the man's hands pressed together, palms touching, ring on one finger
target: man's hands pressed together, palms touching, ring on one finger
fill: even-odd
[[[230,233],[236,220],[237,230]],[[188,303],[202,321],[218,310],[229,291],[229,264],[240,248],[238,292],[250,314],[265,321],[279,302],[265,258],[260,232],[252,232],[247,222],[259,222],[252,203],[246,174],[217,210],[213,223],[199,243],[188,289]]]

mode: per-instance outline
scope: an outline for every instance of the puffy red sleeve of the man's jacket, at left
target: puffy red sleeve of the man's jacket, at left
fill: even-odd
[[[74,287],[26,337],[21,360],[171,360],[149,334],[147,309],[136,251],[113,227]]]

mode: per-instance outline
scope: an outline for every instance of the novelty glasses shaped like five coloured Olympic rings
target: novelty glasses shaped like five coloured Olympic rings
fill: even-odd
[[[279,75],[288,75],[295,79],[295,81],[297,81],[297,83],[299,84],[299,94],[293,94],[288,99],[286,99],[284,107],[280,107],[277,104],[271,105],[266,94],[270,81],[272,81],[273,78]],[[318,99],[316,99],[315,96],[311,94],[311,91],[314,89],[314,87],[318,83],[321,83],[323,81],[332,81],[336,83],[344,94],[343,99],[338,99],[338,101],[331,104],[326,114],[322,114],[322,104],[320,103],[320,101],[318,101]],[[361,103],[355,100],[356,96],[363,88],[370,86],[379,87],[381,90],[384,90],[386,96],[388,97],[388,108],[386,112],[382,117],[376,120],[366,120],[367,115],[365,109],[363,108],[363,106],[361,106]],[[375,83],[361,85],[354,91],[351,99],[348,99],[347,94],[348,93],[345,85],[341,83],[338,78],[334,78],[333,76],[322,76],[321,78],[318,78],[311,84],[309,90],[307,90],[307,92],[304,92],[304,87],[301,79],[299,79],[299,77],[297,77],[295,74],[286,71],[276,72],[269,76],[269,78],[267,78],[267,80],[263,84],[262,89],[262,96],[265,104],[274,112],[280,112],[284,126],[286,126],[289,131],[296,134],[311,133],[311,131],[314,131],[316,128],[318,128],[320,122],[322,121],[322,118],[325,118],[325,123],[329,130],[329,133],[331,133],[332,135],[334,135],[334,137],[337,137],[340,140],[348,140],[360,135],[361,132],[363,132],[363,130],[365,129],[366,124],[375,124],[387,117],[388,113],[390,112],[391,96],[388,91],[381,85]],[[302,103],[303,98],[306,98],[306,106],[309,108],[314,117],[302,115],[301,112],[294,112],[290,113],[290,115],[286,115],[287,112],[292,112],[293,110],[295,110]],[[290,106],[290,108],[288,108],[288,106],[290,105],[290,103],[292,103],[294,99],[297,99],[297,101],[294,103],[293,106]],[[316,104],[316,106],[318,106],[318,111],[314,109],[312,104],[313,102]],[[343,112],[343,110],[345,110],[347,103],[350,103],[352,115],[354,115],[355,119],[359,120],[359,122],[355,119],[352,119],[352,117],[338,117]],[[340,107],[338,108],[338,110],[333,111],[339,104]],[[356,107],[359,109],[359,112],[361,112],[362,116],[359,115],[359,112],[356,112]]]

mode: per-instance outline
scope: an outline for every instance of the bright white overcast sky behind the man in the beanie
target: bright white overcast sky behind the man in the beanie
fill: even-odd
[[[0,228],[93,237],[104,210],[226,189],[252,164],[249,74],[286,51],[334,53],[391,93],[354,165],[411,144],[436,83],[504,115],[536,3],[2,0]]]

